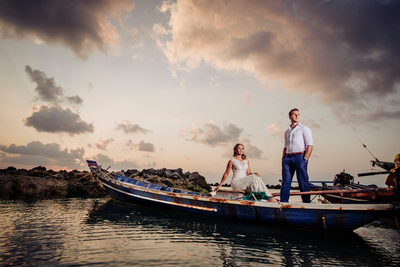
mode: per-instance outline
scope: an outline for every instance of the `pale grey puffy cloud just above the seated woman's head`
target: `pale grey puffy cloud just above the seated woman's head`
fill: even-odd
[[[181,136],[186,140],[203,143],[209,146],[216,146],[228,142],[236,142],[243,129],[234,124],[225,124],[223,129],[214,122],[203,125],[203,129],[192,125],[190,130],[183,129]]]

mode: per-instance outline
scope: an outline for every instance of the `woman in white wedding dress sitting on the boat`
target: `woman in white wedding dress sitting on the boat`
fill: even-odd
[[[271,192],[265,186],[258,173],[252,173],[250,170],[250,162],[246,159],[244,154],[244,146],[236,144],[233,148],[233,158],[228,161],[226,170],[222,176],[221,183],[215,188],[218,191],[221,185],[225,182],[229,175],[230,170],[233,171],[231,187],[235,191],[250,192],[265,192],[268,197],[267,201],[278,202],[277,199],[272,197]]]

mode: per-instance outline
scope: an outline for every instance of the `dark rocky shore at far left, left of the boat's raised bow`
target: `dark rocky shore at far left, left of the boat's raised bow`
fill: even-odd
[[[8,167],[0,170],[0,199],[52,199],[104,197],[106,191],[87,171],[30,170]]]

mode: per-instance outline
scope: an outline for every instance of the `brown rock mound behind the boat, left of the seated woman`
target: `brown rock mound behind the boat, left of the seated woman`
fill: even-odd
[[[200,193],[211,192],[211,186],[207,184],[206,178],[198,172],[183,172],[178,169],[143,169],[142,171],[132,169],[124,172],[130,178],[148,181],[162,186],[180,188]]]

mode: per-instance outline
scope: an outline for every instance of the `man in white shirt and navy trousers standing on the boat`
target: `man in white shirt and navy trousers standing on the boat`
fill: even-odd
[[[307,165],[313,149],[310,128],[300,123],[300,112],[297,108],[289,111],[291,124],[285,131],[285,147],[282,153],[282,187],[281,202],[289,202],[290,186],[296,172],[300,191],[310,191]],[[310,203],[310,195],[302,195],[304,203]]]

